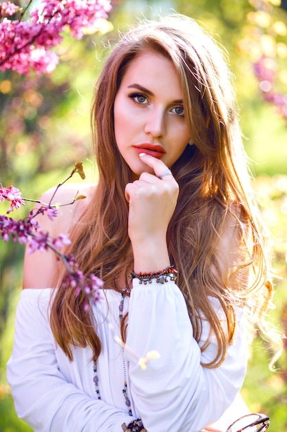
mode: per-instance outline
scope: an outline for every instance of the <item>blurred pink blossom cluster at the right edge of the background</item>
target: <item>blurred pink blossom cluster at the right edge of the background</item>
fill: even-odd
[[[263,56],[254,64],[254,73],[264,99],[277,106],[280,114],[287,119],[287,94],[275,90],[276,72],[273,63],[272,59]]]

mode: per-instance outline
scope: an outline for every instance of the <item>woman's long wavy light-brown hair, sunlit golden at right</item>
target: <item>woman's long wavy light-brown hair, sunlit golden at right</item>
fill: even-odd
[[[125,199],[132,173],[116,145],[114,99],[129,63],[146,50],[170,59],[181,79],[184,112],[195,144],[187,146],[171,167],[180,195],[167,231],[167,245],[178,269],[178,286],[187,302],[195,340],[200,340],[202,313],[217,337],[217,355],[204,365],[216,367],[233,340],[235,304],[248,304],[263,326],[273,286],[238,126],[232,75],[222,48],[193,19],[175,14],[144,21],[123,35],[107,58],[92,104],[99,181],[81,223],[74,227],[69,252],[85,275],[94,273],[103,279],[105,288],[123,290],[118,280],[133,266]],[[231,219],[237,226],[239,253],[225,277],[217,247]],[[227,334],[208,296],[219,300]],[[85,312],[83,298],[77,297],[72,287],[59,285],[50,322],[56,341],[71,360],[71,344],[89,344],[98,357],[100,340],[92,315]],[[208,344],[209,340],[202,351]]]

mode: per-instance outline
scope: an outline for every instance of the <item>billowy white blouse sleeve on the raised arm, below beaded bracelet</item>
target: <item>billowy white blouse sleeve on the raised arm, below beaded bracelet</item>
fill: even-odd
[[[216,299],[210,299],[217,314],[224,314]],[[156,350],[160,358],[149,360],[142,370],[126,350],[131,394],[148,432],[198,432],[226,411],[240,390],[246,373],[247,343],[242,310],[237,308],[237,331],[221,366],[208,369],[217,353],[216,338],[201,353],[184,297],[174,282],[152,281],[140,285],[134,279],[129,306],[127,346],[140,357]],[[224,326],[224,322],[222,321]],[[202,339],[209,336],[203,321]]]

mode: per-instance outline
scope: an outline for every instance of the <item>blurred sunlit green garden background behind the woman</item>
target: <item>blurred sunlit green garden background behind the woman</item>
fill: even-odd
[[[0,72],[0,183],[16,186],[23,197],[38,199],[69,175],[76,160],[83,161],[85,181],[92,181],[96,173],[90,157],[89,109],[107,45],[116,42],[118,30],[125,30],[135,17],[176,11],[201,21],[226,48],[235,76],[244,145],[273,233],[278,277],[271,319],[286,332],[287,0],[112,0],[111,6],[100,31],[88,32],[81,40],[64,35],[55,48],[59,65],[51,74]],[[5,204],[0,205],[5,213]],[[32,204],[26,203],[13,217],[24,217],[31,209]],[[1,432],[32,431],[17,418],[6,381],[23,252],[24,246],[0,239]],[[287,344],[276,371],[268,369],[269,360],[257,334],[242,396],[251,411],[270,416],[270,432],[287,431]]]

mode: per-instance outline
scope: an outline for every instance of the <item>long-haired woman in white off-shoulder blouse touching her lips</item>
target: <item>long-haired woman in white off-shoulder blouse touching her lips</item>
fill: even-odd
[[[105,300],[87,311],[56,256],[28,250],[17,413],[34,431],[226,429],[244,414],[244,311],[262,324],[272,286],[222,51],[187,17],[141,23],[105,63],[92,126],[98,184],[39,222],[71,233],[67,253]]]

